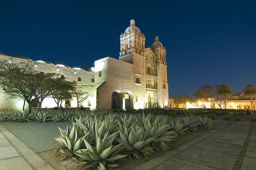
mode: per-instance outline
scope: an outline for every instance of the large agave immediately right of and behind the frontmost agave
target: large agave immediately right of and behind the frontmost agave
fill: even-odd
[[[152,150],[152,147],[148,147],[150,142],[152,142],[156,137],[147,138],[148,131],[144,131],[138,125],[132,125],[131,130],[127,129],[124,125],[124,131],[119,131],[120,138],[116,138],[119,143],[124,143],[124,149],[128,151],[129,158],[134,156],[141,158],[148,151]],[[132,156],[133,155],[133,156]]]

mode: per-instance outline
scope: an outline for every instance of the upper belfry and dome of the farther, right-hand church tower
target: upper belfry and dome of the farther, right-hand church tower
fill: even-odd
[[[155,41],[152,43],[150,49],[156,55],[156,63],[161,63],[166,65],[166,50],[163,44],[159,41],[158,37],[155,37]]]

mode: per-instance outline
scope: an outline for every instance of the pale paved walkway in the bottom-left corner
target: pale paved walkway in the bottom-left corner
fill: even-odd
[[[0,124],[0,170],[54,170]]]

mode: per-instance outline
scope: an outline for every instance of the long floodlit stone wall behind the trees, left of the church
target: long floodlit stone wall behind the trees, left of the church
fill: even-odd
[[[37,61],[32,61],[32,60],[27,60],[27,59],[21,59],[21,58],[16,58],[16,57],[11,57],[7,55],[2,55],[0,54],[0,60],[6,60],[9,62],[11,60],[12,63],[29,63],[35,71],[38,72],[44,72],[44,73],[56,73],[60,75],[64,75],[66,80],[68,81],[76,81],[78,85],[84,85],[85,88],[83,89],[84,91],[87,91],[90,95],[92,95],[90,98],[85,100],[82,103],[79,103],[79,105],[84,105],[84,107],[90,107],[91,109],[96,107],[96,89],[94,87],[94,82],[92,82],[92,79],[95,77],[95,73],[85,71],[83,69],[78,70],[78,69],[73,69],[70,67],[60,67],[57,65],[53,64],[48,64],[48,63],[42,63],[42,62],[37,62]],[[78,81],[78,77],[81,78],[81,81]],[[88,101],[90,101],[91,106],[88,106]],[[21,104],[22,103],[22,104]],[[62,103],[62,106],[65,105]],[[18,99],[10,99],[10,97],[6,96],[5,94],[1,93],[0,96],[0,110],[4,111],[21,111],[23,106],[23,100],[18,100]],[[42,103],[42,108],[48,107],[56,107],[57,104],[54,102],[52,98],[46,98],[44,99]],[[77,102],[76,99],[73,98],[71,101],[71,107],[76,107]],[[28,105],[26,104],[26,109],[28,109]]]

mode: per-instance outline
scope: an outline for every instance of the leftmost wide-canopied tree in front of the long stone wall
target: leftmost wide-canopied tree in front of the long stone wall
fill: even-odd
[[[11,98],[20,98],[28,103],[28,112],[31,113],[33,93],[28,88],[28,82],[33,75],[33,67],[30,63],[10,63],[8,61],[0,62],[0,86],[1,90]],[[23,104],[23,110],[25,102]]]

